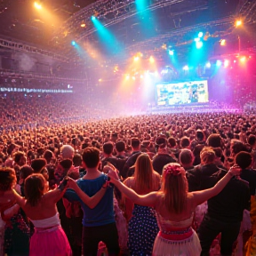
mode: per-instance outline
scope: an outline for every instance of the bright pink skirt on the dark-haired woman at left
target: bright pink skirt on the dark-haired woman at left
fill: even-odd
[[[71,256],[68,238],[60,226],[36,229],[31,237],[29,256]]]

